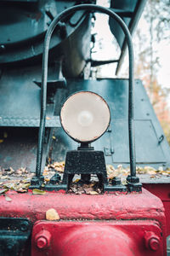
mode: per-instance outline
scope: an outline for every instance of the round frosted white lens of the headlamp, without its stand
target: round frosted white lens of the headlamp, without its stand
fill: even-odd
[[[110,125],[111,113],[105,100],[91,91],[70,96],[60,113],[65,132],[79,143],[91,143],[101,137]]]

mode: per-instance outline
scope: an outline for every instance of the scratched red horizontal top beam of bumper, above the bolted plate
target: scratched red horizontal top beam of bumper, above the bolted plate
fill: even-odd
[[[54,208],[59,213],[59,217],[61,218],[59,223],[65,220],[68,223],[72,223],[75,220],[81,220],[82,225],[89,222],[90,220],[97,220],[97,222],[93,222],[94,224],[99,223],[99,221],[107,224],[107,220],[115,220],[117,224],[122,220],[127,221],[129,224],[127,225],[127,230],[125,232],[126,234],[132,233],[133,222],[137,220],[154,220],[155,225],[158,226],[161,230],[162,236],[159,234],[161,237],[161,247],[163,243],[163,248],[164,250],[166,249],[166,218],[164,207],[161,200],[146,189],[143,189],[141,194],[132,193],[127,195],[69,195],[54,192],[46,192],[45,195],[32,195],[31,192],[26,194],[16,194],[15,192],[10,192],[10,198],[12,201],[8,202],[5,200],[3,195],[0,196],[0,216],[29,218],[33,224],[35,224],[36,221],[44,221],[45,213],[49,208]],[[67,225],[65,224],[65,226]],[[142,226],[140,227],[142,230],[144,230]],[[96,232],[96,236],[99,236],[97,230]],[[124,236],[123,234],[120,236]],[[150,252],[150,250],[147,252]],[[65,254],[65,256],[66,255],[67,254]],[[97,254],[94,254],[94,256],[95,255]],[[130,256],[152,254],[137,253],[126,255]],[[164,251],[164,253],[154,255],[166,255],[166,252]]]

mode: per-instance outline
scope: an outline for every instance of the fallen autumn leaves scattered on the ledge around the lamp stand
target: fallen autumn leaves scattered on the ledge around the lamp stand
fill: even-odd
[[[45,166],[43,171],[44,183],[50,181],[50,178],[54,176],[55,173],[63,174],[65,169],[65,162],[53,162]],[[123,168],[122,165],[117,166],[116,168],[111,165],[106,166],[106,172],[109,182],[114,177],[121,177],[122,183],[127,184],[126,177],[130,173],[129,168]],[[137,166],[137,174],[147,174],[151,179],[161,178],[161,177],[170,177],[170,168],[163,170],[162,167],[157,170],[151,166]],[[18,170],[14,170],[12,167],[7,169],[2,169],[0,167],[0,195],[4,195],[8,190],[14,190],[18,193],[26,193],[31,183],[31,177],[35,173],[30,173],[26,170],[26,167],[21,167]],[[36,192],[35,192],[36,191]],[[34,191],[34,195],[44,195],[45,191],[40,190],[41,192]],[[87,195],[98,195],[102,193],[102,189],[99,187],[98,179],[92,175],[90,183],[83,183],[80,178],[75,176],[75,180],[71,183],[69,193],[74,193],[77,195],[87,194]],[[37,194],[36,194],[37,193]],[[39,194],[38,194],[39,193]]]

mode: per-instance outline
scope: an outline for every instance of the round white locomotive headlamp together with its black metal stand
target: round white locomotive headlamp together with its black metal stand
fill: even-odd
[[[75,174],[81,174],[82,182],[88,183],[91,174],[99,178],[99,185],[105,190],[126,190],[122,185],[108,184],[103,151],[94,150],[90,143],[101,137],[111,121],[108,104],[92,91],[79,91],[70,96],[60,112],[60,122],[65,132],[81,146],[67,151],[65,171],[59,189],[69,189]]]

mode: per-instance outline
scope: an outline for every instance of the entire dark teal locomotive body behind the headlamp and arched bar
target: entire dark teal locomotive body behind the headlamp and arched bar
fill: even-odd
[[[123,18],[132,32],[144,2],[114,1],[111,2],[111,8]],[[0,1],[1,138],[4,131],[8,132],[0,150],[0,166],[4,168],[26,166],[31,172],[35,172],[43,37],[54,17],[76,3],[77,1]],[[59,128],[59,111],[65,98],[78,90],[99,93],[111,108],[111,127],[94,143],[94,148],[104,150],[108,164],[127,166],[129,163],[127,80],[77,79],[83,76],[83,68],[90,55],[90,24],[89,15],[84,15],[84,11],[77,12],[59,23],[54,32],[49,50],[46,139],[42,166],[45,165],[54,128],[57,137],[52,153],[54,160],[64,160],[67,149],[77,148],[77,143],[72,142]],[[110,26],[123,52],[125,43],[121,27],[113,20],[110,20]],[[118,66],[121,58],[122,56]],[[63,75],[67,79],[66,83]],[[139,81],[135,84],[135,128],[137,165],[169,166],[167,141]]]

